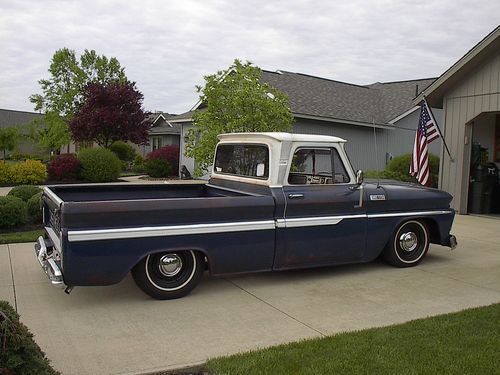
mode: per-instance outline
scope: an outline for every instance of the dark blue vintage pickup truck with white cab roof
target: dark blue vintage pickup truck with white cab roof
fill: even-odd
[[[370,262],[417,265],[454,248],[451,195],[363,182],[345,140],[289,133],[219,136],[206,184],[48,186],[36,256],[52,284],[111,285],[129,272],[157,299],[211,275]]]

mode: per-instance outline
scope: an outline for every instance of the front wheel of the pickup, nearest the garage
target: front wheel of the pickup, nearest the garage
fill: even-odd
[[[429,250],[427,226],[417,220],[402,223],[387,243],[382,258],[396,267],[412,267],[419,264]]]

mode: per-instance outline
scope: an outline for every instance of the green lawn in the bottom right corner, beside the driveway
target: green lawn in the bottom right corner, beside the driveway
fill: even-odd
[[[210,374],[499,374],[500,304],[211,359]]]

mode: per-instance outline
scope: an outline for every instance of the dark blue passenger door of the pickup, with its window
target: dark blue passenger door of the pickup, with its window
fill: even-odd
[[[340,151],[340,152],[339,152]],[[347,263],[362,258],[366,212],[362,190],[336,147],[294,151],[283,186],[284,218],[277,221],[275,269]]]

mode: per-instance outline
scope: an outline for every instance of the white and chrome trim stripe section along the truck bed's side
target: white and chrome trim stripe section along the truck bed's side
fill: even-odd
[[[271,230],[275,227],[276,224],[274,220],[262,220],[235,223],[171,225],[162,227],[70,230],[68,231],[68,241],[96,241],[124,238],[180,236],[189,234],[244,232]]]

